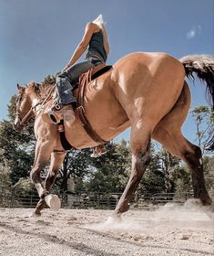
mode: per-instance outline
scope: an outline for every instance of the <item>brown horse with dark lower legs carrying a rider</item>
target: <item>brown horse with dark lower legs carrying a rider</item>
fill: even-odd
[[[194,197],[199,198],[203,205],[211,204],[205,187],[200,149],[181,133],[190,104],[189,86],[184,79],[192,76],[193,72],[207,83],[213,105],[214,58],[211,56],[189,56],[178,60],[164,53],[132,53],[118,60],[112,69],[88,85],[85,112],[102,139],[110,141],[131,127],[132,170],[115,209],[116,216],[129,208],[130,199],[148,166],[151,138],[189,165]],[[59,208],[58,198],[48,195],[48,191],[66,155],[57,125],[44,123],[41,118],[41,113],[53,103],[50,96],[53,88],[36,83],[30,83],[26,88],[18,86],[15,128],[23,128],[30,117],[36,117],[37,144],[31,178],[40,197],[35,211],[37,215],[46,204]],[[75,123],[71,126],[65,123],[65,129],[67,141],[76,149],[97,145],[84,130],[77,114]],[[213,142],[211,148],[214,148]],[[43,186],[40,172],[50,158]]]

